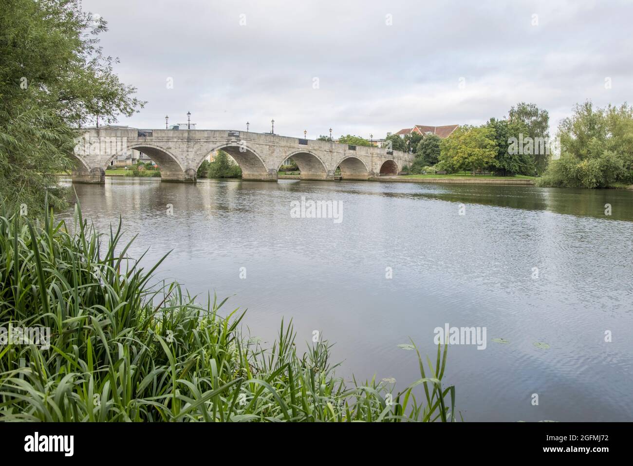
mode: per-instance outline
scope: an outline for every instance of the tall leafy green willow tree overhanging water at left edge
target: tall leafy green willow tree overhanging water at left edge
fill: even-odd
[[[0,10],[0,202],[37,215],[46,193],[64,205],[56,174],[74,168],[82,125],[144,103],[99,46],[106,22],[79,0],[0,0]]]

